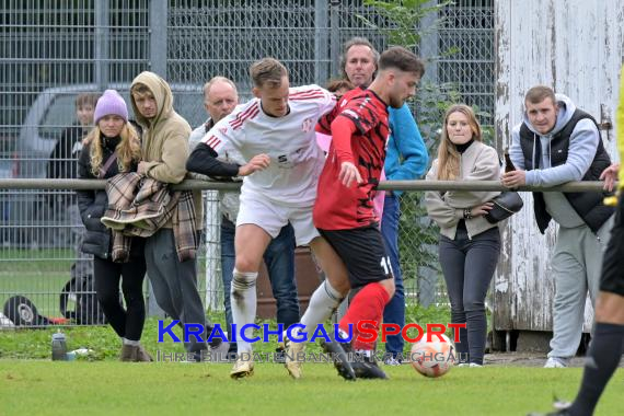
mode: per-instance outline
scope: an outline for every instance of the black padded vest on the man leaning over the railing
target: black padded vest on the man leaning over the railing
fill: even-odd
[[[564,128],[551,138],[552,167],[562,165],[567,161],[570,135],[576,124],[585,118],[591,119],[594,125],[597,124],[591,115],[577,108]],[[596,128],[598,129],[598,125]],[[533,141],[535,141],[535,154],[533,154]],[[533,134],[524,123],[522,127],[520,127],[520,146],[522,147],[522,153],[524,155],[525,170],[531,171],[539,169],[542,162],[542,143],[540,136]],[[533,157],[535,159],[535,165],[533,165]],[[599,140],[593,161],[581,181],[599,181],[600,174],[609,167],[610,164],[611,159],[609,158],[609,153],[604,150],[602,140]],[[605,207],[602,204],[602,199],[605,196],[605,193],[602,192],[564,193],[564,195],[574,210],[594,233],[598,232],[600,227],[602,227],[615,211],[615,208]],[[543,234],[546,228],[548,228],[548,222],[551,222],[552,217],[546,211],[546,204],[542,193],[533,193],[533,206],[535,210],[535,221],[538,222],[540,232]]]

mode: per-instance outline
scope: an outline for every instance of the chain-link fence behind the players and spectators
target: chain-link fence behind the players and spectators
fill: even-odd
[[[0,0],[0,177],[50,177],[49,161],[74,163],[77,148],[63,134],[80,127],[76,100],[114,88],[128,97],[143,70],[172,85],[175,107],[192,126],[206,117],[201,85],[213,76],[231,78],[241,99],[250,96],[247,69],[274,56],[289,68],[291,84],[325,82],[337,71],[342,44],[365,36],[383,49],[379,26],[391,25],[359,0]],[[461,99],[494,114],[493,0],[461,0],[441,10],[443,24],[426,39],[429,49],[459,51],[432,63],[435,82],[453,82]],[[131,115],[130,115],[131,117]],[[416,114],[418,119],[418,114]],[[424,129],[435,149],[436,128]],[[200,290],[211,305],[222,293],[219,215],[215,193],[205,194],[207,242],[200,259]],[[407,301],[446,301],[437,263],[437,233],[421,195],[403,196],[400,222]],[[0,305],[25,296],[44,316],[59,315],[59,297],[80,259],[70,190],[0,189]],[[212,210],[212,213],[210,213]],[[211,231],[210,231],[211,230]],[[217,282],[217,284],[215,284]]]

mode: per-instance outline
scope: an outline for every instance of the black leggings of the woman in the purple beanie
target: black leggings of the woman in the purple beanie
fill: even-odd
[[[97,300],[113,330],[126,339],[141,339],[146,321],[145,257],[130,257],[128,263],[114,263],[94,257],[93,275]],[[126,301],[126,310],[119,302],[119,279],[122,279],[122,292]]]

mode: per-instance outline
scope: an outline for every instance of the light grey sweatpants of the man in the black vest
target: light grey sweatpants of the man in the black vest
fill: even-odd
[[[553,253],[555,301],[553,304],[553,339],[548,357],[574,357],[585,320],[587,292],[594,305],[600,286],[602,254],[611,236],[611,217],[597,235],[587,226],[559,227]]]

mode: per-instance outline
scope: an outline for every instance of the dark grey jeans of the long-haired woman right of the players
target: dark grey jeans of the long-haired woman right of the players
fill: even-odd
[[[492,228],[469,239],[458,228],[455,240],[440,236],[440,265],[451,300],[451,321],[466,323],[455,344],[461,360],[483,365],[487,321],[485,296],[500,253],[500,233]],[[466,357],[467,356],[467,357]]]

